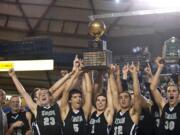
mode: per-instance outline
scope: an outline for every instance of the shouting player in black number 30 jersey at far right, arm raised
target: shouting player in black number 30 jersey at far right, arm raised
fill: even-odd
[[[162,58],[157,57],[157,71],[151,83],[151,92],[161,112],[160,135],[179,135],[180,134],[180,91],[175,84],[171,84],[167,88],[167,103],[157,90],[160,73],[163,70],[164,63]]]

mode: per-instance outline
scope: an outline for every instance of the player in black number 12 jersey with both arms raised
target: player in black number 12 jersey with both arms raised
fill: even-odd
[[[113,101],[117,113],[114,116],[112,127],[112,135],[133,135],[136,134],[136,126],[139,122],[141,113],[139,81],[137,75],[137,67],[132,63],[129,68],[133,78],[134,88],[134,104],[131,106],[131,95],[127,91],[123,91],[116,95],[117,88],[113,89]],[[110,84],[115,86],[114,76],[110,76]]]

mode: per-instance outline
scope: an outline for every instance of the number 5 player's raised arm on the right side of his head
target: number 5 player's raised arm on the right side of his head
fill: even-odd
[[[83,93],[84,95],[84,105],[83,105],[83,111],[85,114],[85,118],[86,120],[88,119],[88,116],[91,113],[91,107],[92,107],[92,80],[90,78],[90,74],[85,72],[84,73],[84,79],[86,82],[86,91],[85,93]]]

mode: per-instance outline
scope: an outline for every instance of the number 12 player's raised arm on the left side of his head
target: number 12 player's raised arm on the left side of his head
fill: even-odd
[[[116,84],[116,80],[114,78],[113,65],[110,67],[110,71],[109,71],[109,83],[110,83],[110,88],[112,89],[114,110],[119,111],[120,110],[119,91],[118,91],[118,87],[117,87],[117,84]]]

